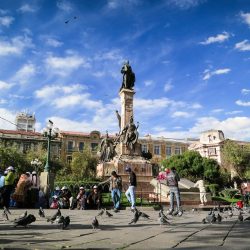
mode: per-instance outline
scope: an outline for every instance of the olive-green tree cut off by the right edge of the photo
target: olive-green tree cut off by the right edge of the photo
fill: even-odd
[[[249,171],[250,147],[226,140],[222,148],[223,167],[234,170],[242,178]]]

